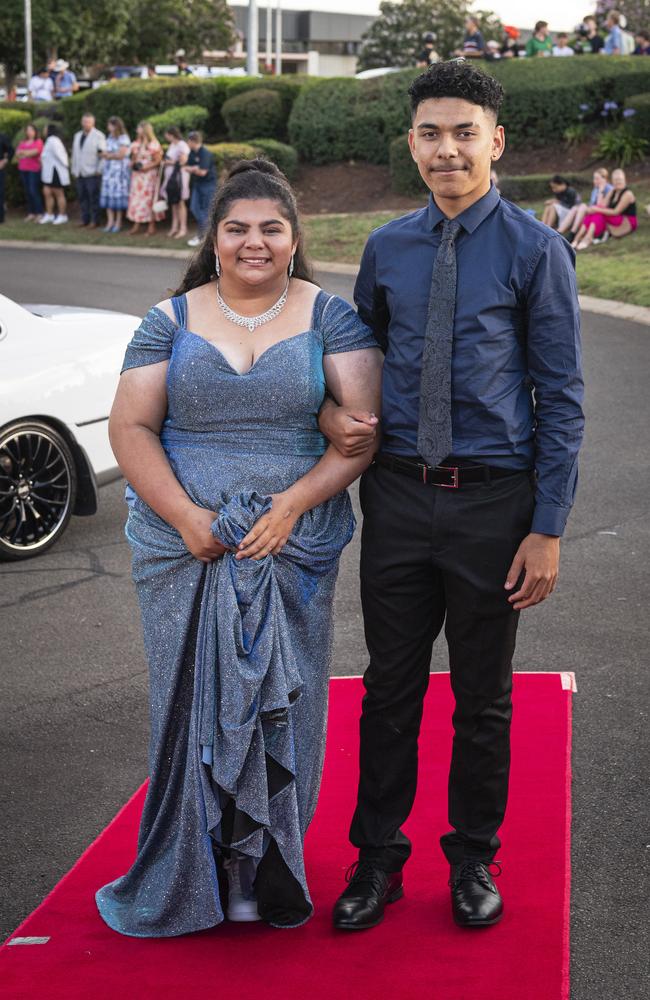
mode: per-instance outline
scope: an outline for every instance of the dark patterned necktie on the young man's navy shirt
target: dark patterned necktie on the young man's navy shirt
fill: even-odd
[[[418,452],[428,465],[451,454],[451,353],[456,311],[456,246],[460,222],[445,219],[433,265],[420,375]]]

